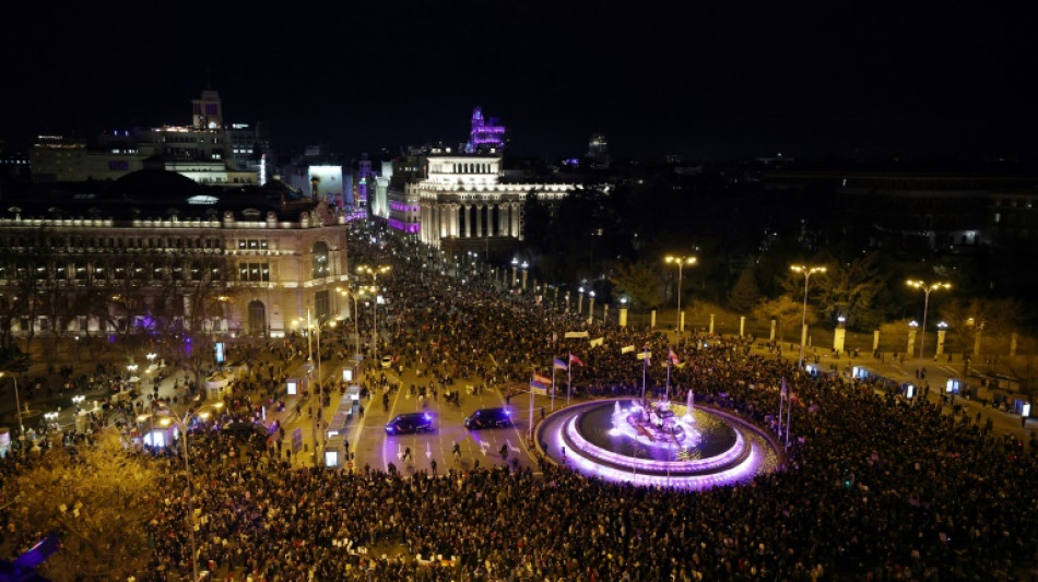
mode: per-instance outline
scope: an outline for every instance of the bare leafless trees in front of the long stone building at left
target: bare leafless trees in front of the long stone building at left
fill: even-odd
[[[81,266],[85,274],[69,280],[62,272],[68,257],[49,239],[40,228],[23,238],[24,247],[0,249],[4,272],[15,275],[5,280],[0,296],[0,352],[7,358],[21,357],[24,366],[25,354],[56,353],[74,336],[76,349],[92,356],[103,343],[128,360],[154,352],[201,379],[212,363],[212,324],[227,320],[235,299],[225,281],[232,272],[225,257],[189,249],[113,250],[90,254]]]

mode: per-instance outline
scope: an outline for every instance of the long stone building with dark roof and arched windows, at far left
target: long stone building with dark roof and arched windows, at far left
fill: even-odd
[[[145,170],[108,186],[60,201],[7,200],[0,302],[34,298],[4,310],[24,313],[0,321],[8,331],[148,331],[165,310],[213,334],[276,337],[298,328],[307,309],[322,319],[347,311],[335,292],[349,273],[345,217],[328,204],[276,180],[232,192]],[[200,285],[222,302],[192,320],[189,305],[199,302],[189,299]]]

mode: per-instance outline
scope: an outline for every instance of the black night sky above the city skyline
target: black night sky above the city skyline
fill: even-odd
[[[281,151],[452,145],[481,104],[531,155],[1038,153],[1034,20],[980,3],[215,3],[14,9],[0,139],[186,124],[209,79]]]

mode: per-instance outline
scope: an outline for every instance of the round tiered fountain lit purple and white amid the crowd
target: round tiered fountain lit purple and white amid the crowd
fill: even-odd
[[[703,489],[751,479],[779,463],[763,431],[721,411],[668,400],[595,401],[556,412],[538,428],[556,463],[588,476]]]

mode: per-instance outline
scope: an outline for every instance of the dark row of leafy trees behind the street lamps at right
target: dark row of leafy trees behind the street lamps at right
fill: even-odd
[[[918,237],[841,215],[827,192],[774,192],[710,176],[645,182],[576,189],[558,202],[528,195],[523,252],[539,276],[649,310],[675,302],[677,270],[663,257],[692,253],[698,262],[683,272],[683,305],[699,299],[774,319],[794,336],[804,277],[791,264],[827,268],[810,281],[810,323],[835,326],[841,317],[863,332],[921,320],[922,294],[906,280],[946,281],[952,290],[933,294],[929,314],[932,323],[946,321],[948,347],[959,352],[970,351],[977,334],[1001,347],[1035,320],[1018,298],[996,294],[1008,286],[992,278],[991,249],[941,253]]]

